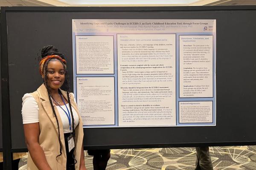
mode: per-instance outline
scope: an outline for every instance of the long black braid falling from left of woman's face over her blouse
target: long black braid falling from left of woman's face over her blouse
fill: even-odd
[[[47,60],[47,62],[45,63],[45,66],[44,66],[44,71],[45,71],[45,74],[44,74],[44,83],[46,85],[46,88],[47,88],[47,93],[48,93],[48,97],[49,97],[49,102],[51,103],[51,106],[52,106],[52,111],[53,111],[53,114],[55,116],[55,119],[56,119],[56,122],[57,122],[57,125],[58,125],[58,141],[59,141],[59,144],[60,144],[60,154],[58,156],[61,156],[62,154],[62,145],[61,145],[61,136],[60,136],[60,127],[59,127],[59,122],[58,122],[58,117],[56,115],[56,112],[55,112],[55,109],[54,109],[54,106],[52,104],[52,99],[51,99],[51,91],[50,91],[50,87],[49,87],[49,84],[48,84],[48,71],[47,71],[47,66],[48,66],[48,63],[49,63],[50,59]],[[57,157],[58,157],[57,156]],[[56,157],[56,159],[57,159]]]

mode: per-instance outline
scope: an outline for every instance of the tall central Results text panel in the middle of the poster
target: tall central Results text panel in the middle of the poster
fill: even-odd
[[[176,125],[175,34],[117,34],[119,126]]]

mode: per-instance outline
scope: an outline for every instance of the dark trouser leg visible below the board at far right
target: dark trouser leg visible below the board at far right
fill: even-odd
[[[195,170],[213,170],[209,147],[196,147]]]

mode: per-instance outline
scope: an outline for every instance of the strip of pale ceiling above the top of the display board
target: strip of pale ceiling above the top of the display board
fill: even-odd
[[[0,0],[0,6],[215,6],[256,5],[256,0]]]

